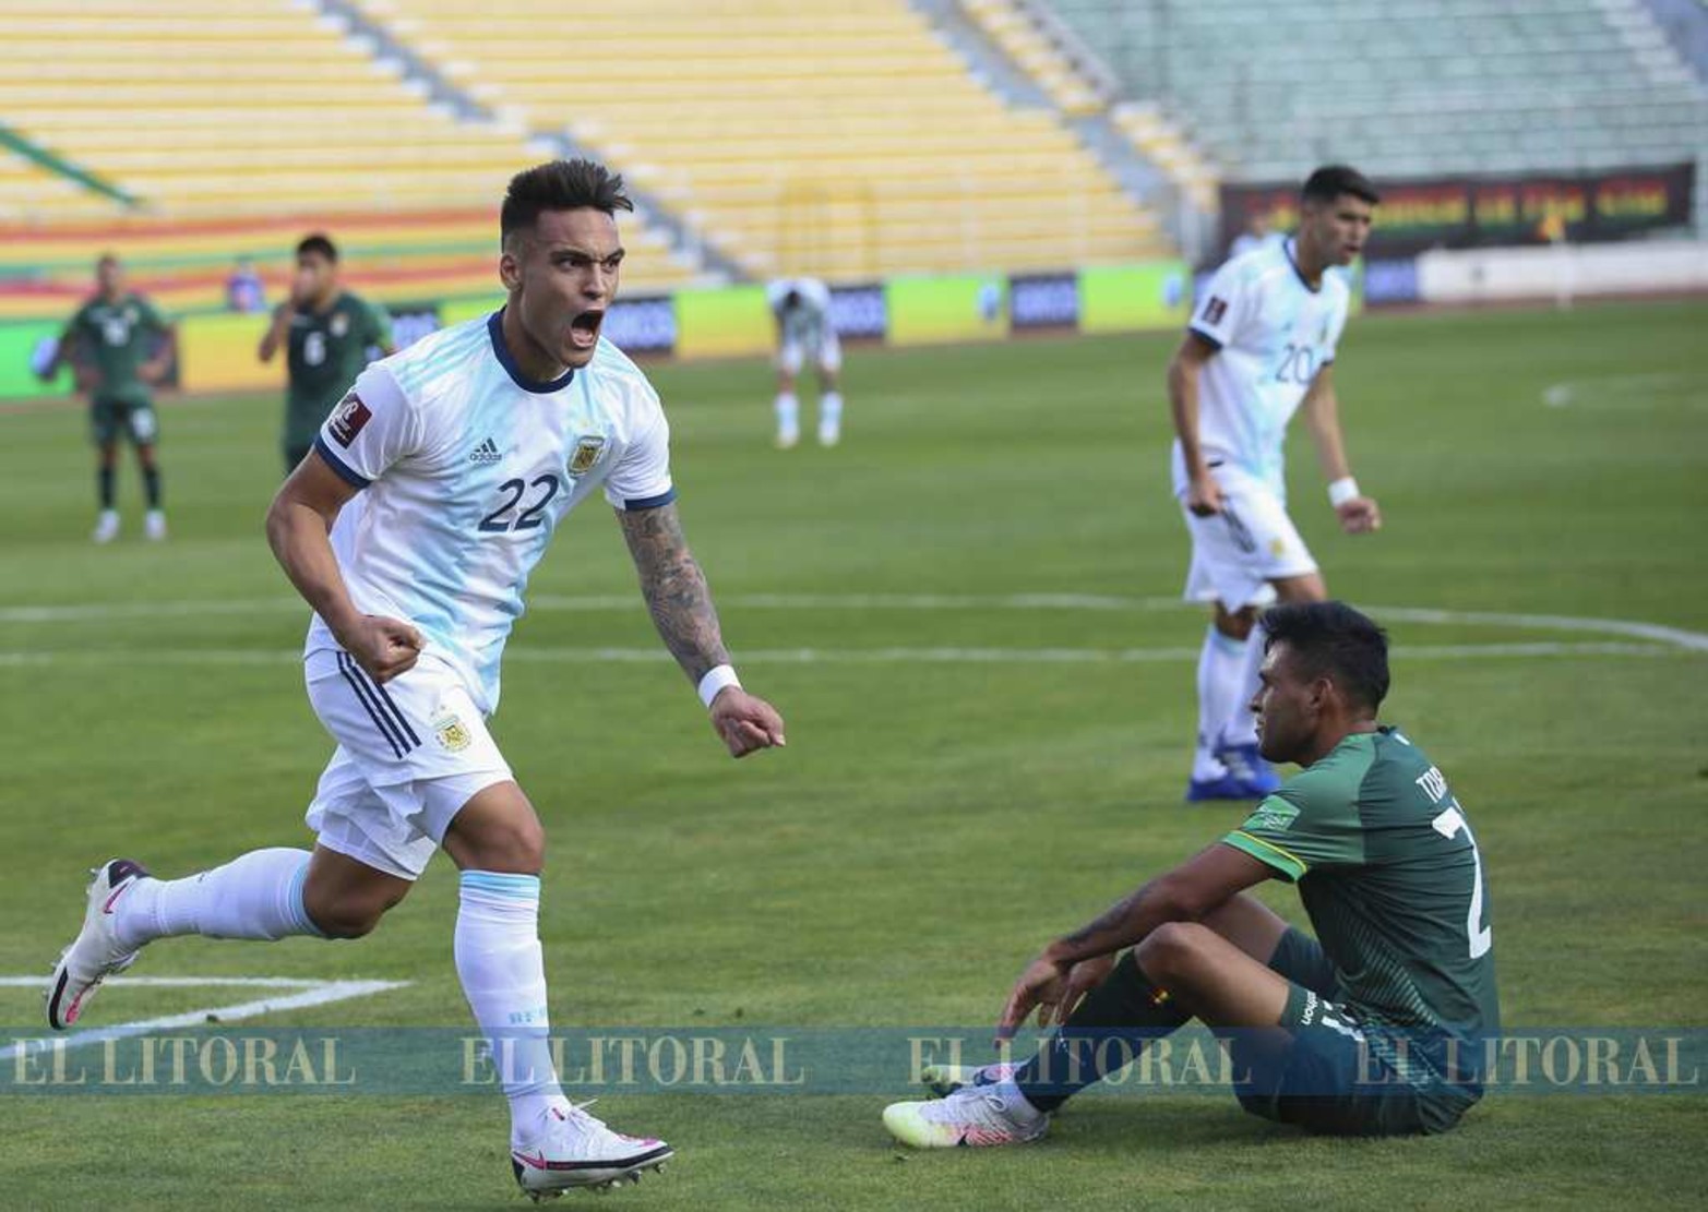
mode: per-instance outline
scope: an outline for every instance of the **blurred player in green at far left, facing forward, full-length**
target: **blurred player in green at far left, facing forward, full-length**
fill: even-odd
[[[166,538],[166,514],[161,509],[161,468],[155,442],[161,425],[149,393],[171,372],[178,357],[178,329],[135,290],[125,288],[125,266],[108,253],[96,261],[96,297],[77,309],[60,335],[58,348],[41,367],[51,381],[60,365],[70,365],[77,389],[89,393],[89,422],[99,461],[96,493],[101,516],[94,541],[118,538],[114,478],[118,475],[120,434],[130,439],[142,468],[142,490],[149,502],[143,533],[150,539]]]

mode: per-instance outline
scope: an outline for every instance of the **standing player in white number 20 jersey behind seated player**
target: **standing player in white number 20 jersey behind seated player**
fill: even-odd
[[[1341,442],[1332,364],[1349,292],[1331,271],[1363,251],[1378,200],[1354,169],[1312,172],[1298,230],[1216,271],[1168,365],[1173,492],[1192,536],[1185,596],[1214,603],[1197,664],[1189,801],[1261,799],[1279,785],[1247,710],[1264,656],[1257,608],[1329,596],[1286,512],[1281,446],[1295,411],[1305,411],[1341,527],[1382,526]]]

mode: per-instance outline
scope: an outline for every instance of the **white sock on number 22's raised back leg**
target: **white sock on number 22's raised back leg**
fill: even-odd
[[[184,879],[138,879],[113,905],[113,929],[126,947],[174,934],[208,939],[289,939],[321,934],[302,908],[309,852],[270,847],[237,855]]]

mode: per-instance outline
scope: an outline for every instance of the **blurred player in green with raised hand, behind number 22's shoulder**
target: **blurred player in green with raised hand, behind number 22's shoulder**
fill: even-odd
[[[295,471],[321,422],[355,376],[367,365],[367,350],[393,353],[391,318],[384,309],[338,285],[338,248],[314,234],[297,244],[297,273],[290,297],[273,312],[258,355],[272,362],[285,345],[285,475]]]

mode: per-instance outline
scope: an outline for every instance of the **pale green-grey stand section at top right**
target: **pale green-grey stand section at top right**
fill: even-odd
[[[1708,130],[1638,0],[1050,3],[1245,179],[1329,157],[1390,178],[1665,164]]]

